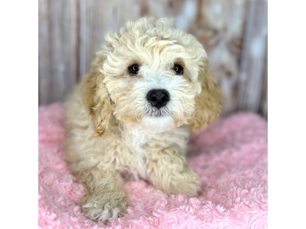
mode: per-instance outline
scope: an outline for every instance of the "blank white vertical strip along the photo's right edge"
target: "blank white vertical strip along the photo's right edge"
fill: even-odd
[[[268,2],[268,226],[304,228],[306,11]]]

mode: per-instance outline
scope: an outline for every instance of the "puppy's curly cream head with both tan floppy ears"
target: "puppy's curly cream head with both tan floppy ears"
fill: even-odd
[[[113,117],[150,132],[183,124],[196,130],[221,109],[202,45],[165,18],[140,18],[127,22],[119,35],[107,34],[83,83],[99,135]]]

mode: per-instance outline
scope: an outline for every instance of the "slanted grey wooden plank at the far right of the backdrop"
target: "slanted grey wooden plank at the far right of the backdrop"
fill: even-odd
[[[267,44],[267,1],[249,1],[237,88],[237,109],[260,110]]]

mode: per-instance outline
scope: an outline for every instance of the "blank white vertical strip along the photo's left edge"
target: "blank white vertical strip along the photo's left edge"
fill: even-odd
[[[1,228],[38,227],[38,1],[0,2]]]

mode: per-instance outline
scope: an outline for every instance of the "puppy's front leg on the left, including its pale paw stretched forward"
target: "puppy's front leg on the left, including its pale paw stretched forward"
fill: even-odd
[[[116,171],[95,167],[83,171],[77,179],[87,188],[87,194],[80,203],[87,217],[106,221],[125,212],[127,195],[123,180]]]

